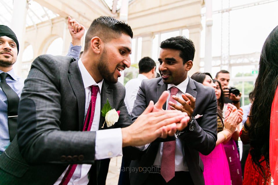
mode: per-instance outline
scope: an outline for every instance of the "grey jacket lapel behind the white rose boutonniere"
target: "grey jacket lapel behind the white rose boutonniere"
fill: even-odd
[[[104,121],[105,121],[105,117],[103,117],[101,115],[101,109],[103,108],[104,104],[107,102],[107,99],[109,101],[109,104],[111,107],[114,107],[113,106],[113,89],[109,89],[109,85],[103,81],[103,85],[102,85],[102,88],[101,88],[101,104],[100,104],[100,119],[99,119],[99,127],[98,129],[99,130],[102,130],[102,129],[106,129],[107,128],[107,125],[105,124],[104,125],[104,128],[101,128]]]

